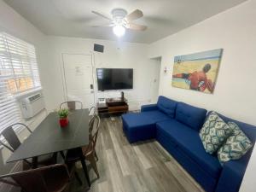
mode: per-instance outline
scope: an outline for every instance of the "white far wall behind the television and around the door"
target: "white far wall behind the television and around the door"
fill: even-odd
[[[104,52],[93,53],[93,45],[104,45]],[[54,89],[50,98],[52,109],[57,108],[64,101],[62,59],[61,53],[94,54],[95,68],[115,67],[133,68],[133,89],[124,90],[131,109],[138,109],[140,105],[151,100],[151,84],[154,80],[155,61],[147,58],[148,44],[121,43],[98,39],[49,37],[51,86]],[[118,93],[116,93],[118,92]],[[117,96],[119,91],[99,91],[99,97]]]

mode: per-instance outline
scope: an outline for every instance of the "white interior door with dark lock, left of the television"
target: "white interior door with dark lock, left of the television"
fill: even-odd
[[[91,55],[62,54],[67,101],[83,102],[83,108],[95,106]]]

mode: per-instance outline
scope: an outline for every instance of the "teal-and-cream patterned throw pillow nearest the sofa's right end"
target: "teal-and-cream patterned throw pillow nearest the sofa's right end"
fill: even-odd
[[[228,125],[232,130],[232,134],[228,137],[226,143],[218,149],[218,160],[220,163],[240,159],[253,146],[238,125],[233,122],[228,122]]]

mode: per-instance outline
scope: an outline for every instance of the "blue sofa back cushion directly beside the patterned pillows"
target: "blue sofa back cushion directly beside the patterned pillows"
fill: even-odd
[[[184,102],[177,103],[175,119],[195,129],[195,131],[200,131],[206,115],[207,110],[204,108],[196,108]]]

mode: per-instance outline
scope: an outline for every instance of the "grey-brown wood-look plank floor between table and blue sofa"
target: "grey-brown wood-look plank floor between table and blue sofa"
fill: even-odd
[[[100,178],[89,166],[90,192],[197,192],[204,191],[155,140],[130,144],[120,117],[102,118],[96,144]],[[81,166],[79,176],[85,182]],[[72,183],[72,192],[86,186]]]

